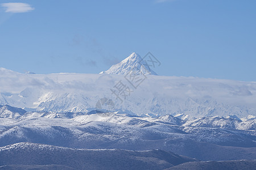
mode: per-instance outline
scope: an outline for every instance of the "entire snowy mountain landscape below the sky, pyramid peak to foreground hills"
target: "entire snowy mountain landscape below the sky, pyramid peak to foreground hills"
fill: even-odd
[[[102,74],[0,68],[0,169],[254,167],[255,102],[256,82],[159,76],[136,53]]]

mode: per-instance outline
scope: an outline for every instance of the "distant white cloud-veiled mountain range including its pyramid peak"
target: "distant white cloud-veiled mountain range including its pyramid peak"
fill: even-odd
[[[109,99],[111,111],[138,116],[256,116],[255,82],[159,76],[141,63],[133,53],[104,74],[21,74],[1,68],[0,104],[26,111],[88,112],[98,108],[100,99]]]

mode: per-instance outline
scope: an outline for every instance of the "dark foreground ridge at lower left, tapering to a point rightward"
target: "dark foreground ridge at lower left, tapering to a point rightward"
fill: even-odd
[[[0,165],[64,165],[75,169],[165,169],[195,161],[161,150],[85,150],[33,143],[0,148]],[[4,168],[4,167],[3,167]]]

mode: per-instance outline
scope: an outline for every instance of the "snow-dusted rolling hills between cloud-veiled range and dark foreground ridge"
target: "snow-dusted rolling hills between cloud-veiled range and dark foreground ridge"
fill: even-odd
[[[256,118],[181,120],[170,114],[152,118],[117,112],[24,112],[0,107],[0,147],[31,142],[87,149],[160,149],[200,160],[256,159],[255,129]]]

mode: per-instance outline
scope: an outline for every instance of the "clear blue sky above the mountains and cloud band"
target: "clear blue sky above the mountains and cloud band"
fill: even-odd
[[[6,69],[100,73],[151,52],[162,62],[159,75],[256,81],[255,0],[0,3]]]

